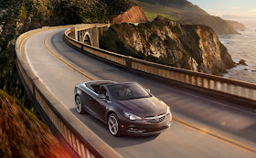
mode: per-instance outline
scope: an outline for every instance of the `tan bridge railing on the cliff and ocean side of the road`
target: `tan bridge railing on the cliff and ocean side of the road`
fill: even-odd
[[[112,63],[119,64],[126,68],[132,68],[146,74],[152,74],[163,79],[175,80],[189,85],[190,87],[221,92],[221,94],[228,94],[234,97],[240,97],[241,99],[251,100],[252,103],[255,104],[255,84],[123,56],[98,47],[91,47],[90,45],[80,43],[69,37],[69,34],[70,29],[66,30],[65,38],[71,45],[79,47],[99,58],[109,60]]]

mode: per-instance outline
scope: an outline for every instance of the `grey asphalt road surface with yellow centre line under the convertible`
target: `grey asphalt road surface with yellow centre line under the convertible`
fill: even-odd
[[[79,118],[123,157],[254,158],[256,156],[256,153],[240,147],[243,145],[256,149],[256,111],[240,109],[240,105],[179,88],[176,85],[166,85],[157,80],[146,79],[138,74],[126,72],[125,69],[84,56],[64,43],[63,34],[62,29],[28,38],[23,47],[26,50],[27,61],[37,77],[74,114],[74,117]],[[91,79],[69,68],[46,47],[93,79],[140,83],[171,107],[176,120],[172,122],[168,131],[160,135],[113,137],[106,124],[91,115],[79,115],[75,111],[74,86],[80,81]],[[217,138],[219,135],[224,139]]]

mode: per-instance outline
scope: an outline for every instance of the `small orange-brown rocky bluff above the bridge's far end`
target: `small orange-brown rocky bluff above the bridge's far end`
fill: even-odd
[[[138,5],[134,5],[131,9],[127,10],[122,15],[114,17],[112,22],[117,24],[124,22],[139,23],[147,22],[147,18],[144,15],[143,9]]]

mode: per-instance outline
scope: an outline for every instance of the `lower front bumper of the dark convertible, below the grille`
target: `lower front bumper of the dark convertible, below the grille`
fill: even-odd
[[[149,123],[147,121],[122,121],[121,132],[128,135],[154,135],[170,128],[172,116],[166,117],[165,121]]]

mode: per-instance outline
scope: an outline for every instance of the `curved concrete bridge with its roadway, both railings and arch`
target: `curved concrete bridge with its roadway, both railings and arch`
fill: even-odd
[[[98,48],[108,25],[43,27],[16,40],[17,69],[36,107],[80,157],[255,157],[256,85]],[[64,35],[64,39],[62,38]],[[80,81],[136,81],[171,107],[170,130],[112,137],[75,111]]]

